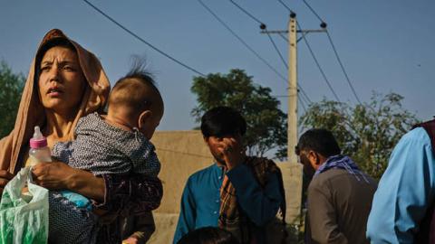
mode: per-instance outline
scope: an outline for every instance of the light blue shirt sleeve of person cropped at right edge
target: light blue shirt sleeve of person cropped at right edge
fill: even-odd
[[[372,243],[413,243],[435,190],[435,158],[422,127],[403,136],[374,194],[367,223]]]

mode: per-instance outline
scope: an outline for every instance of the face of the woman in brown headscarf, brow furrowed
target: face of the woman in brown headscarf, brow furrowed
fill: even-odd
[[[44,108],[55,113],[75,113],[86,85],[77,53],[56,46],[43,55],[40,64],[39,96]]]

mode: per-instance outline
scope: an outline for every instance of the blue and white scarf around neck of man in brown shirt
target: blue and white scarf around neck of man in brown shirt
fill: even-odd
[[[355,176],[358,181],[360,181],[360,177],[358,177],[358,175],[360,175],[366,183],[369,183],[369,181],[367,180],[365,175],[362,174],[358,166],[347,155],[333,155],[328,157],[328,159],[326,159],[326,162],[324,162],[324,164],[322,164],[315,171],[314,177],[330,169],[343,169],[349,174]]]

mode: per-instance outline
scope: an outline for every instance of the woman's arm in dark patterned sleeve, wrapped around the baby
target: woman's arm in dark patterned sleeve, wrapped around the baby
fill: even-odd
[[[68,189],[91,198],[99,210],[141,214],[160,206],[163,188],[159,178],[143,174],[103,174],[75,169],[62,162],[34,166],[34,181],[50,189]]]

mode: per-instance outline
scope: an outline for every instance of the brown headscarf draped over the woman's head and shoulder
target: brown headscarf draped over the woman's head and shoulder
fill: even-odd
[[[39,44],[34,61],[32,61],[30,66],[29,75],[25,81],[14,130],[9,136],[5,136],[0,140],[1,170],[8,170],[14,174],[23,166],[24,162],[18,161],[23,160],[24,146],[28,145],[33,135],[34,127],[46,125],[44,108],[39,99],[38,87],[35,84],[37,81],[37,77],[35,77],[35,73],[37,73],[36,67],[39,67],[37,57],[43,54],[42,52],[46,49],[47,44],[59,39],[73,44],[77,52],[80,67],[89,84],[83,92],[80,108],[73,120],[73,127],[71,127],[71,130],[66,135],[69,140],[73,140],[73,129],[79,118],[101,109],[109,96],[111,84],[104,70],[102,70],[102,64],[97,57],[92,52],[82,48],[77,42],[73,42],[61,30],[53,29],[46,33],[43,41]]]

